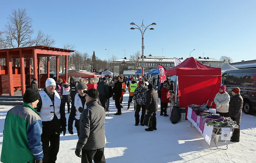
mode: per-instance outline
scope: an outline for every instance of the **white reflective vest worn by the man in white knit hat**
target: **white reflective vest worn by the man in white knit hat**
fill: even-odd
[[[60,95],[56,90],[54,90],[54,104],[52,103],[51,98],[47,95],[44,90],[39,92],[40,98],[42,100],[42,108],[40,110],[39,116],[42,121],[51,121],[54,117],[54,114],[60,119]]]

